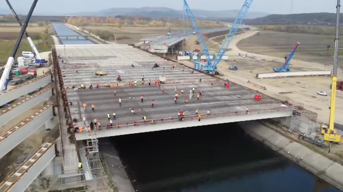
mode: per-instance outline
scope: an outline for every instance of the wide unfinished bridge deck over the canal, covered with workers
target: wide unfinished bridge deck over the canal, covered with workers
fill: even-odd
[[[64,52],[64,48],[66,52]],[[281,101],[262,96],[261,101],[255,101],[256,92],[246,87],[230,82],[230,87],[224,86],[224,80],[216,80],[216,77],[209,76],[199,71],[190,73],[192,69],[184,68],[173,61],[165,60],[156,55],[141,51],[129,45],[119,44],[92,44],[92,45],[56,45],[57,54],[65,53],[68,58],[66,65],[61,65],[65,77],[65,87],[79,87],[81,83],[88,85],[93,83],[89,89],[69,89],[67,98],[73,105],[69,106],[72,119],[77,119],[76,127],[84,126],[82,118],[91,120],[97,118],[102,122],[102,130],[92,132],[96,137],[109,137],[151,131],[160,131],[173,128],[185,128],[192,126],[249,121],[258,119],[279,118],[291,115],[291,107],[287,107]],[[157,63],[159,67],[153,68]],[[173,65],[175,64],[175,67]],[[132,65],[134,67],[132,67]],[[76,68],[79,72],[76,73]],[[107,76],[95,76],[95,71],[107,71]],[[120,82],[116,81],[120,74]],[[154,80],[159,76],[166,77],[164,93],[154,86]],[[144,84],[141,78],[144,76]],[[147,83],[151,79],[151,86]],[[200,82],[200,79],[202,80]],[[137,86],[129,87],[129,82],[137,80]],[[95,88],[96,83],[100,88]],[[114,87],[104,87],[107,83],[114,84]],[[174,103],[175,86],[179,98]],[[192,87],[195,88],[191,99],[189,93]],[[184,95],[181,95],[181,90]],[[114,96],[116,90],[116,96]],[[200,99],[196,95],[202,92]],[[140,97],[144,95],[143,102]],[[119,97],[123,99],[119,106]],[[184,100],[188,98],[188,103]],[[154,99],[154,107],[151,100]],[[83,109],[86,102],[88,107]],[[95,104],[95,111],[90,108]],[[246,112],[246,107],[249,107]],[[131,114],[131,109],[135,113]],[[196,109],[202,114],[202,120],[198,121],[195,115]],[[178,120],[178,112],[185,112],[185,121]],[[211,114],[206,111],[211,110]],[[116,120],[110,129],[107,113],[116,113]],[[142,120],[146,115],[146,122]],[[151,121],[154,120],[154,124]],[[116,128],[118,124],[119,128]],[[75,134],[76,140],[88,139],[90,133]]]

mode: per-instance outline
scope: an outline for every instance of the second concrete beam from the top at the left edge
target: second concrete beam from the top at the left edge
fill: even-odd
[[[52,96],[51,88],[46,87],[36,92],[35,94],[17,102],[16,104],[0,111],[0,127],[6,124],[11,119],[15,118],[16,116],[19,116],[24,111],[37,105],[37,103],[44,101],[51,96]]]

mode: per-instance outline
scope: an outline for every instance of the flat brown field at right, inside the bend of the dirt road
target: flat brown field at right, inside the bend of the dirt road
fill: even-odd
[[[254,36],[241,40],[239,49],[262,55],[285,57],[300,42],[299,51],[293,59],[322,64],[332,64],[334,54],[334,36],[260,31]],[[327,45],[330,45],[327,50]],[[343,67],[343,44],[340,43],[339,65]]]

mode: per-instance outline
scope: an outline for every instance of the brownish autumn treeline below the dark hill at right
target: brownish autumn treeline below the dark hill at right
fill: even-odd
[[[335,35],[335,27],[331,26],[314,26],[314,25],[264,25],[260,27],[266,31],[280,31],[289,33],[309,33],[316,35]],[[343,28],[342,28],[343,29]],[[343,35],[342,29],[340,35]]]

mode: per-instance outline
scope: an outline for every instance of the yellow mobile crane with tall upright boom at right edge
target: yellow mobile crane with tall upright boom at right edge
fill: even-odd
[[[321,133],[324,135],[324,145],[330,147],[331,142],[336,142],[339,144],[343,143],[343,137],[337,133],[337,130],[334,128],[335,121],[335,105],[336,105],[336,90],[337,90],[337,59],[338,59],[338,30],[340,22],[340,4],[341,0],[337,0],[337,13],[336,13],[336,36],[335,36],[335,52],[334,52],[334,61],[333,61],[333,71],[332,71],[332,92],[331,92],[331,103],[330,103],[330,119],[329,126],[322,124],[320,126]]]

